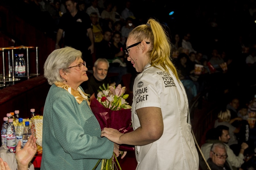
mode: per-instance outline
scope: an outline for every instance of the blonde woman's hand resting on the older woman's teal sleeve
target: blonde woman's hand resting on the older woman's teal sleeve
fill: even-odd
[[[104,128],[101,131],[101,137],[106,137],[108,138],[110,141],[117,143],[117,144],[122,144],[120,143],[120,137],[123,135],[123,133],[119,132],[116,129],[113,128]]]

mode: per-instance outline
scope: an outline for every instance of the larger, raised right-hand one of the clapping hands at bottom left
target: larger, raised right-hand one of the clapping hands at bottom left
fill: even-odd
[[[23,149],[21,149],[21,142],[18,142],[15,158],[17,160],[19,170],[28,169],[28,163],[34,158],[36,151],[37,147],[35,136],[30,135]]]

